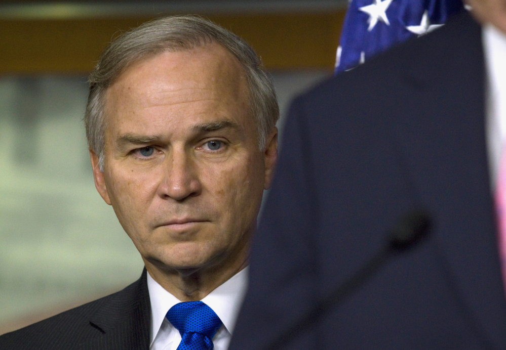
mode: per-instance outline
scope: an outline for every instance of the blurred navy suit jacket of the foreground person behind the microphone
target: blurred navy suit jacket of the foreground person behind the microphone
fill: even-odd
[[[481,28],[463,13],[295,100],[229,350],[265,348],[420,205],[430,236],[286,348],[506,348],[484,81]]]

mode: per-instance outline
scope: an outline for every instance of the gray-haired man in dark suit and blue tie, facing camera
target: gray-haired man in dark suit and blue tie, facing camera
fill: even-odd
[[[154,20],[105,50],[85,116],[95,185],[145,269],[118,293],[1,336],[0,348],[227,348],[277,157],[279,109],[260,64],[241,38],[192,16]]]

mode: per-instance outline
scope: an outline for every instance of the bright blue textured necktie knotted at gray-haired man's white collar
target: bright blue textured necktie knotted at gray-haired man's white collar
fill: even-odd
[[[211,350],[221,320],[202,301],[185,301],[175,304],[167,312],[167,320],[181,334],[177,350]]]

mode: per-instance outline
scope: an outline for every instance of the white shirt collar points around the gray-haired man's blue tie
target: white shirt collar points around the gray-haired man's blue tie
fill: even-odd
[[[233,275],[202,299],[202,302],[218,315],[230,334],[236,324],[247,288],[248,267]],[[150,336],[153,341],[169,309],[181,301],[165,290],[149,273],[147,274],[147,289],[151,301]]]

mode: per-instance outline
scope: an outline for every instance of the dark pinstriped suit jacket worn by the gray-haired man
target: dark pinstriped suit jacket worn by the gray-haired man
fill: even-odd
[[[125,289],[0,336],[2,350],[149,349],[146,270]]]

